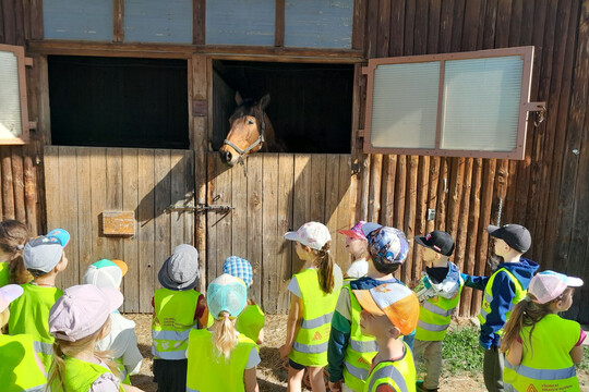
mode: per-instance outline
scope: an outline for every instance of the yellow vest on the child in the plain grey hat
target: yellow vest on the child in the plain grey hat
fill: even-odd
[[[194,313],[201,293],[194,290],[156,290],[152,321],[152,354],[161,359],[185,359],[191,329],[197,328]]]

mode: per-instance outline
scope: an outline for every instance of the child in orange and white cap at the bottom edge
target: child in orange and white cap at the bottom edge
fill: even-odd
[[[401,283],[385,283],[370,290],[353,290],[362,313],[362,333],[378,343],[378,353],[364,384],[365,392],[414,392],[416,366],[411,350],[400,340],[416,329],[419,301]]]

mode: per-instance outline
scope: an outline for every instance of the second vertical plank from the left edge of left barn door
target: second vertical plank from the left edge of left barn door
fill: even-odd
[[[65,229],[73,235],[77,235],[77,187],[72,179],[75,179],[77,173],[77,162],[74,147],[59,148],[59,185],[60,192],[56,197],[61,198],[61,209],[59,211],[61,219],[59,220],[61,229]],[[72,184],[73,183],[73,184]],[[73,185],[73,186],[72,186]],[[104,186],[104,184],[103,184]],[[68,189],[68,192],[63,192]],[[58,196],[59,195],[59,196]],[[57,229],[57,228],[50,228]],[[70,241],[64,249],[65,256],[69,259],[68,268],[58,275],[61,278],[60,287],[69,287],[80,283],[80,254],[77,240]],[[58,279],[59,280],[59,279]]]

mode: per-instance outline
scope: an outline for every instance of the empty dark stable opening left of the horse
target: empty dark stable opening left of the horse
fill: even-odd
[[[53,145],[189,148],[185,60],[49,56]]]

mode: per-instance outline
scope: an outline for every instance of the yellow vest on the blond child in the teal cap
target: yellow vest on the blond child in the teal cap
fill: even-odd
[[[188,347],[187,391],[244,391],[243,372],[254,347],[257,350],[250,338],[240,333],[237,346],[226,360],[223,355],[215,356],[213,332],[192,330]]]

